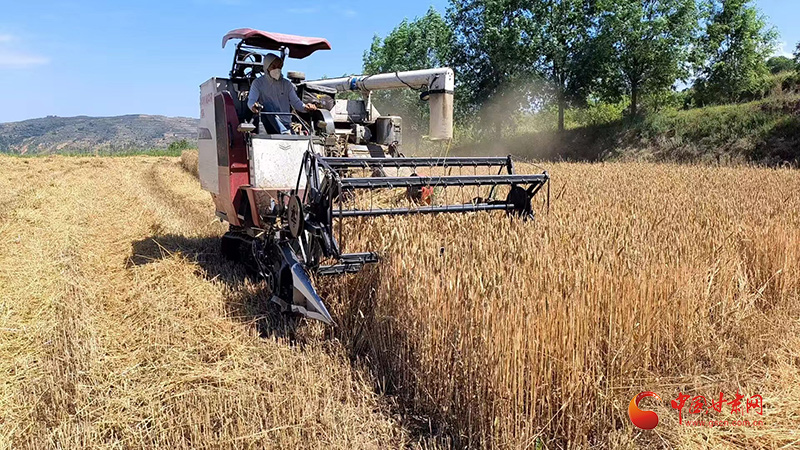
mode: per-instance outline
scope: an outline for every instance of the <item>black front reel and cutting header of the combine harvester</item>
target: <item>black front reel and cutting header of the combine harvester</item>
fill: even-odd
[[[341,239],[348,218],[436,214],[454,212],[504,211],[508,215],[533,218],[532,198],[549,181],[546,172],[516,174],[509,158],[339,158],[306,153],[298,184],[289,196],[286,208],[278,214],[273,226],[260,238],[252,238],[240,230],[226,234],[226,254],[240,249],[241,259],[250,259],[272,288],[272,301],[284,313],[333,324],[333,318],[313,286],[314,276],[357,273],[366,264],[378,261],[374,252],[343,253],[334,235],[338,225]],[[472,175],[419,175],[417,167],[452,172],[453,167],[476,168]],[[499,168],[494,175],[477,174],[477,167]],[[409,168],[412,176],[354,177],[361,169]],[[505,171],[506,173],[503,173]],[[426,170],[426,172],[429,172]],[[305,179],[304,188],[300,181]],[[495,188],[507,186],[505,199],[495,199]],[[473,187],[491,187],[487,198],[474,197],[466,202],[454,202],[452,196],[437,196],[432,202],[433,189],[448,187],[462,194]],[[407,207],[373,204],[372,192],[385,189],[404,189]],[[298,195],[303,192],[302,197]],[[349,194],[349,195],[347,195]],[[463,198],[463,195],[462,195]],[[361,201],[360,199],[370,199]],[[397,201],[403,201],[398,199]],[[347,204],[347,206],[346,206]],[[230,236],[229,236],[230,235]],[[243,249],[247,251],[241,251]],[[330,265],[321,265],[322,261]]]

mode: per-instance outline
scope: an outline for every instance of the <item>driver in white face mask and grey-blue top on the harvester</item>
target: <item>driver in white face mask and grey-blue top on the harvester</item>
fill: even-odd
[[[262,116],[269,133],[291,134],[292,116],[289,107],[297,112],[315,111],[313,103],[303,104],[291,81],[283,78],[283,60],[272,53],[264,56],[264,75],[253,81],[247,97],[247,107],[258,114],[264,112],[285,113]],[[272,128],[272,129],[270,129]]]

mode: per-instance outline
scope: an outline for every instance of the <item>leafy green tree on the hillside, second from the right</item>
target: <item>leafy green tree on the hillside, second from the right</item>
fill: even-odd
[[[698,14],[694,0],[601,0],[601,39],[607,92],[660,94],[689,76],[690,44]],[[613,95],[617,96],[617,95]]]

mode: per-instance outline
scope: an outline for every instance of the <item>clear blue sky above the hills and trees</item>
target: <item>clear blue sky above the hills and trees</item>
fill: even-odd
[[[250,27],[327,38],[333,50],[286,68],[309,79],[357,73],[375,34],[446,0],[1,0],[0,122],[45,115],[198,115],[199,85],[230,70],[229,30]],[[758,0],[791,53],[800,2]]]

